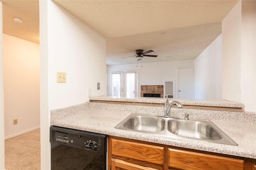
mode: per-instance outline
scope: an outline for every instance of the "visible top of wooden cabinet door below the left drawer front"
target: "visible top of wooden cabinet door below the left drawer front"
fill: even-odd
[[[154,168],[148,168],[136,164],[131,164],[119,159],[112,159],[111,165],[112,170],[156,170]]]

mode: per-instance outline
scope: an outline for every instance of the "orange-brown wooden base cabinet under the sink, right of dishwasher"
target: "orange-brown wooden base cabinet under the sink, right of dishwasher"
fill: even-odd
[[[256,159],[108,137],[108,170],[256,170]]]

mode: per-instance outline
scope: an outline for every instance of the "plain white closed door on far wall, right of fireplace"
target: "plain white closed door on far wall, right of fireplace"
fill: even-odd
[[[178,98],[194,99],[194,68],[178,68]]]

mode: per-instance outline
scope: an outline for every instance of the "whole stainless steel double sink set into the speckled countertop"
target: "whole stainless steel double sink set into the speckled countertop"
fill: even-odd
[[[133,113],[119,123],[116,129],[164,135],[181,139],[238,145],[210,120],[173,119]]]

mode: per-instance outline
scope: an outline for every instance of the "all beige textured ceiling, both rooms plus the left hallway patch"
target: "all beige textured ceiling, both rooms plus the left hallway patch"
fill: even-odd
[[[39,43],[38,0],[3,2],[3,32]],[[106,63],[136,63],[125,53],[153,50],[143,62],[196,58],[221,33],[238,0],[54,0],[106,37]],[[21,18],[15,23],[13,18]],[[168,57],[163,59],[163,57]]]

